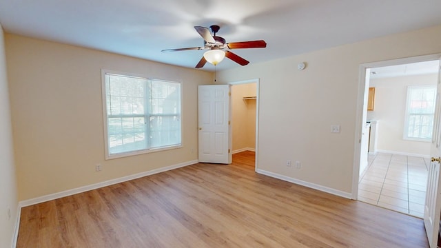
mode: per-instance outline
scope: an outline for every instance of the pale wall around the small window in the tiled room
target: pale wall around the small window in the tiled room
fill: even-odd
[[[407,87],[410,85],[436,85],[438,74],[399,76],[371,79],[375,87],[375,106],[367,112],[368,120],[378,121],[377,149],[399,154],[430,155],[430,142],[403,139]]]

